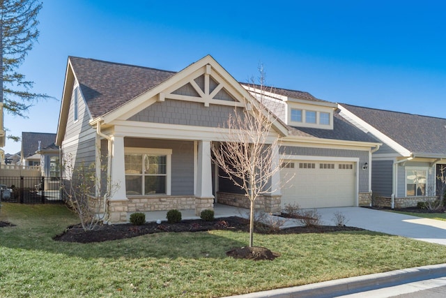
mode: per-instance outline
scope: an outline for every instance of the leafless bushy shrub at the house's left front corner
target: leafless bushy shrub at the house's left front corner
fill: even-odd
[[[109,156],[107,156],[109,158]],[[107,163],[100,158],[100,173],[95,171],[95,163],[75,164],[71,155],[63,160],[62,190],[66,195],[68,205],[76,212],[81,221],[82,229],[95,230],[100,223],[109,218],[109,198],[118,189],[118,184],[113,184],[110,177],[104,177],[107,173]]]

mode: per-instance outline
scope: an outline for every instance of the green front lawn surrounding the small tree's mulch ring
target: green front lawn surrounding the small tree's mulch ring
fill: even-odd
[[[364,219],[364,220],[367,220]],[[3,203],[0,297],[220,297],[446,262],[446,246],[375,232],[254,235],[281,256],[234,260],[246,232],[53,241],[77,218],[60,205]]]

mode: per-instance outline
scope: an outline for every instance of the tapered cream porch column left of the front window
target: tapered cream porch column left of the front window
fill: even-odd
[[[114,135],[112,147],[111,183],[118,184],[110,200],[127,200],[125,195],[125,163],[124,163],[124,137]]]

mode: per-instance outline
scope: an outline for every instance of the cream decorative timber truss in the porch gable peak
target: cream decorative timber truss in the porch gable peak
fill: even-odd
[[[241,103],[231,95],[237,93],[238,91],[231,84],[213,70],[210,64],[207,64],[160,92],[157,100],[164,101],[167,98],[194,101],[203,103],[205,107],[209,107],[210,104],[232,107],[245,106],[245,103]]]

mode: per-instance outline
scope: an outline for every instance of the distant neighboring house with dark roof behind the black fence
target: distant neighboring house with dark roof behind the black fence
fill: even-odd
[[[59,177],[59,147],[55,133],[22,133],[22,165],[41,166],[45,177]],[[56,175],[56,176],[54,176]]]

